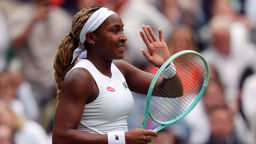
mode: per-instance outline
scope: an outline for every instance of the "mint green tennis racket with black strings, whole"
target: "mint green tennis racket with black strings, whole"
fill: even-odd
[[[176,75],[170,78],[172,80],[162,77],[163,70],[171,62],[176,68]],[[164,88],[161,86],[162,81]],[[181,81],[183,89],[180,85],[176,86],[175,81]],[[201,54],[185,50],[171,56],[158,70],[149,87],[141,129],[145,129],[148,115],[154,122],[160,124],[153,130],[154,132],[183,118],[199,102],[208,81],[209,66]],[[174,96],[170,96],[170,93]]]

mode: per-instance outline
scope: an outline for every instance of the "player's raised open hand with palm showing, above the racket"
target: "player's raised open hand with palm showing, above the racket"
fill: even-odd
[[[141,49],[141,51],[151,64],[160,68],[170,58],[168,47],[163,39],[162,30],[158,29],[160,40],[158,41],[150,26],[142,25],[142,28],[144,32],[140,30],[140,35],[149,53],[145,49]]]

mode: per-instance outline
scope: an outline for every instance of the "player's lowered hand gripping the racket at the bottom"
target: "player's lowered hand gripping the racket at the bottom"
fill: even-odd
[[[125,143],[126,144],[147,144],[151,142],[151,138],[148,136],[157,137],[157,133],[152,130],[144,130],[136,128],[132,131],[125,133]]]

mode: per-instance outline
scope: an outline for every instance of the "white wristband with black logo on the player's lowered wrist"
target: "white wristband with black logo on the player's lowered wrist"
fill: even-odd
[[[108,144],[125,144],[124,131],[108,132]]]

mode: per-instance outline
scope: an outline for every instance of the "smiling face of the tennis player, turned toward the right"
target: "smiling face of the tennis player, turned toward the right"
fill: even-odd
[[[99,56],[107,60],[124,57],[126,36],[123,33],[123,22],[117,14],[109,16],[93,33]]]

